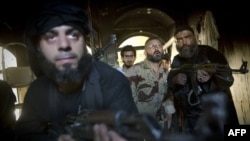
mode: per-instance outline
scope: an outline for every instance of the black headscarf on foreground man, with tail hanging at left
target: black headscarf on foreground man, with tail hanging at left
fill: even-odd
[[[37,50],[40,36],[53,27],[70,25],[79,30],[85,37],[92,32],[88,17],[83,9],[62,1],[47,3],[27,22],[24,32],[24,42],[27,45],[30,66],[38,77],[43,74],[39,62],[41,54]],[[86,38],[85,38],[86,39]]]

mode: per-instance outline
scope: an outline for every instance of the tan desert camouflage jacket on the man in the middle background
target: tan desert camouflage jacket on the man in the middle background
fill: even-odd
[[[126,76],[130,81],[133,98],[140,113],[156,116],[161,105],[164,106],[166,114],[172,114],[175,111],[172,99],[167,99],[164,104],[161,104],[167,94],[168,72],[161,67],[158,76],[147,60],[128,69]]]

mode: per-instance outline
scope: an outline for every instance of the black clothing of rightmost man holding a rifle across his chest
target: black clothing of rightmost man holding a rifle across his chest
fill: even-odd
[[[221,54],[214,48],[207,45],[199,45],[196,53],[190,59],[181,58],[179,55],[176,55],[173,59],[173,62],[171,64],[171,70],[168,75],[168,92],[174,95],[175,105],[177,109],[181,109],[184,120],[189,118],[190,121],[194,121],[193,123],[191,123],[192,125],[195,125],[195,122],[198,120],[198,118],[200,117],[200,115],[204,110],[204,105],[202,104],[202,102],[198,103],[199,100],[202,99],[201,97],[203,95],[211,93],[220,93],[220,94],[225,93],[227,95],[226,99],[228,99],[228,100],[225,99],[227,105],[226,109],[228,110],[226,111],[227,120],[225,121],[225,123],[238,124],[236,110],[229,90],[230,86],[234,82],[234,78],[232,76],[232,72],[230,71],[230,67],[228,68],[229,71],[225,72],[218,71],[214,73],[211,79],[205,83],[199,83],[196,80],[196,77],[193,80],[197,82],[196,83],[192,82],[191,81],[192,77],[195,76],[196,72],[195,71],[188,72],[187,70],[189,69],[186,70],[183,69],[181,72],[185,73],[188,77],[187,84],[181,86],[174,84],[172,82],[173,77],[175,76],[175,74],[177,74],[176,72],[173,71],[174,69],[180,68],[183,64],[206,64],[206,63],[222,64],[225,66],[228,65],[228,62],[223,54]],[[192,83],[196,84],[195,86],[199,86],[201,90],[198,98],[195,97],[194,93],[192,94],[192,96],[189,95],[191,89],[194,90]],[[198,104],[195,104],[196,102]]]

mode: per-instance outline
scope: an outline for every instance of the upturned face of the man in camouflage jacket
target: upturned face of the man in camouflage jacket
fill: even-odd
[[[148,60],[157,63],[160,62],[163,55],[163,44],[157,39],[150,40],[145,45],[144,54]]]

